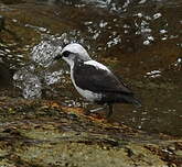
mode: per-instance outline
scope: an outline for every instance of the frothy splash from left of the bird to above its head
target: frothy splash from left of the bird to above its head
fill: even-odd
[[[35,45],[30,53],[30,63],[18,70],[14,76],[15,87],[22,90],[26,99],[41,98],[42,89],[56,84],[64,82],[63,69],[52,71],[54,57],[68,43],[84,43],[78,31],[71,31],[62,35],[43,35],[41,43]],[[20,55],[22,57],[22,55]]]

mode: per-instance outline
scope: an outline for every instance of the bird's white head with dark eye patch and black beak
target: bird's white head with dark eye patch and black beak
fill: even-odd
[[[81,59],[83,62],[90,60],[87,51],[77,43],[66,45],[61,53],[57,54],[55,59],[64,59],[71,67],[73,67],[75,60]]]

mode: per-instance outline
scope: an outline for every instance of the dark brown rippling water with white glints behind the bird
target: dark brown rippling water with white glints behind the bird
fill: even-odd
[[[122,78],[142,101],[141,109],[116,104],[110,121],[147,132],[182,135],[180,0],[32,0],[20,1],[13,8],[33,12],[23,24],[42,36],[41,42],[26,46],[29,56],[19,53],[22,65],[17,66],[13,79],[24,98],[83,105],[67,66],[52,63],[57,49],[78,42],[94,59]],[[19,22],[19,18],[11,16]],[[24,66],[23,56],[29,57],[29,65]]]

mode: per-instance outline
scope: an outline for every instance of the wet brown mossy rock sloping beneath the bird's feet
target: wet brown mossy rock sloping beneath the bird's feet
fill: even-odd
[[[75,119],[71,116],[73,112]],[[1,97],[0,165],[179,166],[181,140],[149,137],[143,132],[109,124],[83,112],[52,101]],[[164,152],[169,148],[175,154]]]

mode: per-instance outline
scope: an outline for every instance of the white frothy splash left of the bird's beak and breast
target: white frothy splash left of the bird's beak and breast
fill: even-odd
[[[52,85],[60,79],[62,70],[55,75],[55,71],[49,71],[49,66],[53,64],[53,58],[61,49],[62,43],[53,36],[33,47],[31,63],[13,76],[15,86],[22,90],[24,98],[41,98],[43,84]]]

